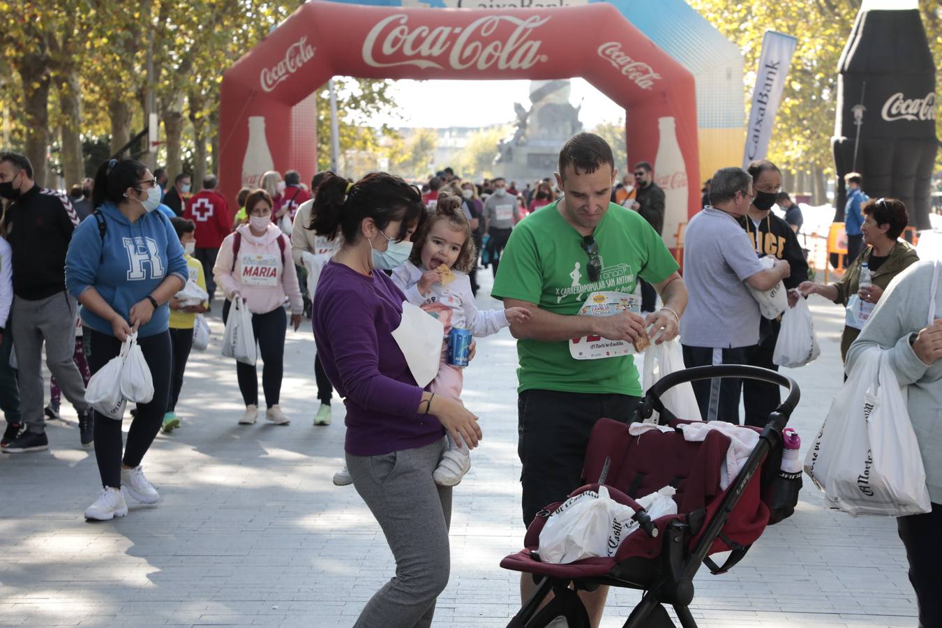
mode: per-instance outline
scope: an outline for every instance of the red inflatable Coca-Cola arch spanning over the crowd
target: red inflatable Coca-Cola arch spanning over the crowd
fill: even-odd
[[[581,76],[625,107],[629,159],[651,160],[658,148],[674,155],[668,159],[674,168],[656,173],[668,193],[669,244],[676,224],[699,209],[693,76],[605,3],[501,10],[302,5],[223,75],[219,182],[226,198],[235,198],[240,185],[257,184],[267,169],[297,169],[302,180],[311,178],[314,94],[334,75]]]

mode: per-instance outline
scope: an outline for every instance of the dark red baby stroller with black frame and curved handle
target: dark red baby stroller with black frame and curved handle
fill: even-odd
[[[758,444],[739,474],[729,478],[725,490],[720,486],[721,470],[729,437],[711,430],[703,442],[685,441],[678,426],[693,422],[674,417],[659,399],[677,384],[706,378],[750,378],[788,388],[788,398],[771,413]],[[589,628],[588,615],[574,588],[592,591],[603,585],[644,591],[624,628],[673,627],[674,622],[662,604],[674,606],[683,628],[695,628],[689,606],[693,600],[693,576],[701,563],[714,574],[728,571],[746,555],[766,525],[777,523],[794,511],[797,490],[783,500],[782,494],[788,493],[788,489],[781,486],[779,467],[782,430],[799,396],[792,379],[768,369],[699,366],[661,378],[642,399],[636,420],[643,421],[658,411],[658,422],[674,427],[674,431],[653,429],[635,437],[628,433],[624,423],[600,419],[593,427],[583,463],[582,479],[587,486],[570,496],[597,491],[604,484],[612,499],[637,511],[634,519],[641,527],[624,539],[613,557],[553,564],[541,561],[537,548],[540,531],[561,502],[537,513],[528,527],[525,548],[500,563],[504,569],[531,573],[538,584],[508,628],[543,628],[560,616],[566,618],[570,628]],[[667,485],[676,490],[678,514],[652,521],[634,498]],[[731,554],[723,566],[708,557],[726,551]],[[541,609],[540,604],[551,591],[552,601]]]

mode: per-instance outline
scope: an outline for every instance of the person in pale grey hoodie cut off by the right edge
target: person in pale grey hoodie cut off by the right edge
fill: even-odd
[[[919,626],[942,626],[938,570],[942,564],[942,262],[919,262],[890,282],[847,352],[847,372],[872,346],[889,353],[907,389],[909,419],[926,469],[932,512],[899,517],[900,539],[916,589]]]

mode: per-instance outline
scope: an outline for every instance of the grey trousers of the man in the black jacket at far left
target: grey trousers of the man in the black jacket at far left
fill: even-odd
[[[30,301],[13,298],[13,348],[20,369],[20,407],[26,428],[41,434],[45,417],[42,402],[42,343],[46,344],[46,364],[55,376],[62,395],[84,412],[85,384],[72,356],[75,352],[75,309],[78,304],[65,292]]]

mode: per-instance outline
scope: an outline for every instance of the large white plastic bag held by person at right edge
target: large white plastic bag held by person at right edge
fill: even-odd
[[[831,507],[853,515],[929,512],[926,473],[906,392],[879,347],[865,351],[804,459]]]

